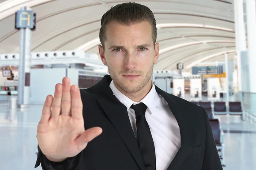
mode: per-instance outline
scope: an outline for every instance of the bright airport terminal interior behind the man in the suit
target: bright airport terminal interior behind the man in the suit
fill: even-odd
[[[102,15],[125,0],[0,0],[0,170],[32,170],[44,101],[108,74]],[[224,170],[256,170],[255,0],[134,0],[157,21],[154,85],[208,113]],[[41,170],[41,166],[36,168]]]

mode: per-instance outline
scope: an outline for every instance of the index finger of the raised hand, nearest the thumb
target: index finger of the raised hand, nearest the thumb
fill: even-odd
[[[77,85],[71,86],[71,116],[75,119],[83,119],[83,102]]]

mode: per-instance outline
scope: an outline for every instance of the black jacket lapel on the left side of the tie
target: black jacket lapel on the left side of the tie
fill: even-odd
[[[100,82],[88,89],[91,93],[99,96],[97,100],[100,107],[103,109],[109,120],[116,128],[123,142],[125,143],[131,155],[139,165],[141,170],[145,170],[143,159],[140,154],[137,140],[131,127],[131,122],[127,113],[127,108],[123,105],[116,96],[113,95],[109,84],[111,78],[106,75]],[[103,129],[104,131],[104,129]]]

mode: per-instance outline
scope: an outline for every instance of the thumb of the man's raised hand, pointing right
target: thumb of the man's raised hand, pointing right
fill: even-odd
[[[77,147],[79,150],[84,150],[87,146],[87,143],[92,141],[94,138],[99,136],[102,133],[102,128],[100,127],[92,127],[90,129],[85,130],[77,139]]]

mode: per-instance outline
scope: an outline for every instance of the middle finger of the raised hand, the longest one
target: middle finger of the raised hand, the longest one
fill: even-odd
[[[62,79],[62,84],[61,114],[63,116],[68,116],[71,115],[70,79],[64,77]]]

